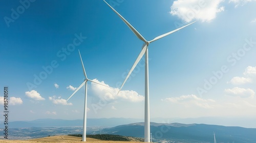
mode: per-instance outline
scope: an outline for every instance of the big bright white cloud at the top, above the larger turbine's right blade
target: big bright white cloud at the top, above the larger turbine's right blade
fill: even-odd
[[[186,22],[193,19],[211,21],[216,18],[218,12],[225,10],[220,3],[223,0],[177,0],[170,7],[170,14],[176,15]]]

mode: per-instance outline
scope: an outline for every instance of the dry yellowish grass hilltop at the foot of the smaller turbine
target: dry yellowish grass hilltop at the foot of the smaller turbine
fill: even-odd
[[[81,137],[75,137],[75,136],[69,136],[69,135],[57,135],[57,136],[49,136],[49,137],[42,137],[42,138],[35,138],[35,139],[29,139],[29,140],[0,140],[0,142],[5,143],[11,143],[11,142],[17,142],[17,143],[46,143],[46,142],[60,142],[60,143],[73,143],[73,142],[82,142]],[[105,141],[105,140],[99,140],[94,138],[87,138],[86,142],[93,142],[93,143],[135,143],[136,141]],[[138,142],[136,142],[138,143]]]

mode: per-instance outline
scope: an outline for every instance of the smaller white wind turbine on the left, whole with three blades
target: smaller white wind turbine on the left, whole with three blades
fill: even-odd
[[[83,109],[83,132],[82,132],[82,141],[86,141],[86,119],[87,119],[87,81],[91,81],[91,82],[94,82],[94,83],[97,83],[97,84],[100,84],[100,85],[103,85],[105,87],[108,87],[102,83],[99,83],[99,82],[96,82],[96,81],[93,81],[91,79],[89,79],[86,75],[86,70],[84,69],[84,66],[83,66],[83,62],[82,62],[82,57],[81,57],[81,54],[80,54],[80,51],[78,50],[79,52],[79,55],[80,55],[80,59],[81,59],[81,63],[82,63],[82,69],[83,69],[83,74],[84,76],[86,77],[86,79],[84,79],[84,81],[82,82],[82,84],[75,90],[75,92],[68,98],[68,100],[79,90],[83,87],[83,85],[85,84],[86,85],[86,91],[85,91],[85,97],[84,97],[84,109]],[[67,101],[68,101],[67,100]]]

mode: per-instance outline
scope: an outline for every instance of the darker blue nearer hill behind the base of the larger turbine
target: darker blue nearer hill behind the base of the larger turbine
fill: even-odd
[[[184,142],[256,142],[256,129],[226,127],[206,124],[159,124],[151,123],[154,142],[163,140]],[[123,136],[144,137],[144,123],[134,123],[105,128],[99,134],[117,134]]]

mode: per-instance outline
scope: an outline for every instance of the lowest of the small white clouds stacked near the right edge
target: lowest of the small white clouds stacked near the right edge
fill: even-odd
[[[254,97],[254,91],[251,89],[242,89],[242,88],[232,88],[232,89],[225,89],[224,91],[227,95],[230,96],[239,96],[242,98],[247,98],[247,97]]]

